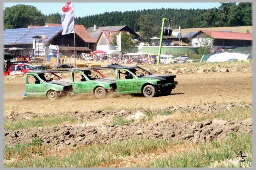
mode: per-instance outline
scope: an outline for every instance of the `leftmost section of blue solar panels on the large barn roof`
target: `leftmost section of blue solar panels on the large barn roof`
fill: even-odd
[[[4,30],[4,44],[14,44],[31,30],[32,28],[17,28]]]

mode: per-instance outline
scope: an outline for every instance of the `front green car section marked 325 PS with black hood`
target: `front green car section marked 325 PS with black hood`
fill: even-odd
[[[116,93],[142,93],[145,97],[155,97],[157,93],[168,95],[178,84],[176,75],[152,74],[138,66],[115,68]]]

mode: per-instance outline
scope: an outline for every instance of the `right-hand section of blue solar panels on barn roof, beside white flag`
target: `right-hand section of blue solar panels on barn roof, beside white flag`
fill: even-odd
[[[46,35],[48,37],[47,40],[50,40],[53,36],[55,36],[61,30],[62,30],[62,26],[33,28],[33,30],[31,30],[26,35],[24,35],[20,40],[18,40],[16,44],[33,43],[33,39],[32,39],[33,36]]]

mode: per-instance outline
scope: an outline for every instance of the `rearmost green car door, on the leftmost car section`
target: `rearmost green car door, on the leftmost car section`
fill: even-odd
[[[36,81],[36,79],[38,81]],[[37,75],[26,75],[26,93],[27,97],[45,97],[44,83]]]

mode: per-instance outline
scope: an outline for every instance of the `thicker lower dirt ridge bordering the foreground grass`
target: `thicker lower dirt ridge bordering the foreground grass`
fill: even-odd
[[[252,132],[252,118],[244,121],[223,121],[218,119],[193,123],[143,123],[132,125],[107,125],[106,127],[54,126],[28,130],[4,131],[8,145],[31,142],[42,138],[45,144],[55,146],[79,146],[81,144],[110,144],[129,138],[170,138],[198,143],[225,138],[230,132]]]

